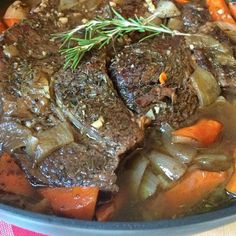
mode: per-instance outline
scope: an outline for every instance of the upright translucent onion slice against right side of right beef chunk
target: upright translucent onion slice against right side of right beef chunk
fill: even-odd
[[[196,90],[200,106],[208,106],[220,95],[220,86],[215,77],[207,70],[197,66],[191,76],[191,82]]]

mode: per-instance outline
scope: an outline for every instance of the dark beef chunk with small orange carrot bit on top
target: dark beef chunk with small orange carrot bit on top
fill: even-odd
[[[189,83],[190,58],[184,38],[157,37],[126,46],[112,59],[109,71],[131,110],[139,115],[151,112],[157,124],[169,121],[176,127],[198,106]],[[164,85],[159,81],[162,72],[167,75]]]

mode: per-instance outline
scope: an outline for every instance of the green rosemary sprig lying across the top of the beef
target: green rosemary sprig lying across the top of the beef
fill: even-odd
[[[112,9],[115,17],[112,19],[96,18],[83,25],[77,26],[67,32],[54,35],[54,39],[59,39],[63,43],[60,52],[65,56],[65,68],[75,69],[86,52],[92,48],[98,49],[108,45],[112,40],[123,37],[130,32],[150,32],[145,40],[160,33],[171,35],[185,35],[178,31],[173,31],[164,25],[156,25],[152,22],[155,13],[148,17],[137,17],[125,19],[117,11]],[[81,37],[81,34],[83,35]]]

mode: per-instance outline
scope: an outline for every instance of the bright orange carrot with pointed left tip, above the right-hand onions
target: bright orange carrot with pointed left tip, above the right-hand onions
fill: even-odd
[[[208,146],[217,140],[222,129],[223,125],[220,122],[202,119],[192,126],[172,132],[172,135],[192,138],[203,146]]]

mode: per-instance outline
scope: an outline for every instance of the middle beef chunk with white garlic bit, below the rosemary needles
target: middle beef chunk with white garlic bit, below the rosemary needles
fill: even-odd
[[[54,76],[57,105],[82,133],[115,155],[142,140],[135,117],[124,106],[107,76],[105,59],[94,55],[77,70]]]

